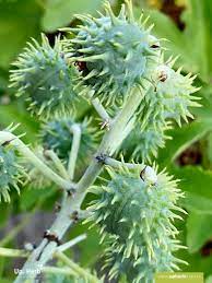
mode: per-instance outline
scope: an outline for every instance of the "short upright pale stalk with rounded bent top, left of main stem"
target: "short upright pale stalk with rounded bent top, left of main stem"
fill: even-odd
[[[80,149],[80,141],[81,141],[80,125],[79,123],[72,125],[72,127],[70,128],[70,131],[73,134],[73,140],[72,140],[71,152],[69,155],[68,174],[70,176],[70,179],[72,180],[74,177],[75,163],[76,163],[78,153]]]

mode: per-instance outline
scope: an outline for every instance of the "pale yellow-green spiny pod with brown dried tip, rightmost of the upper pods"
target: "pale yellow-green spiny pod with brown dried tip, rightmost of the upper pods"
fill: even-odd
[[[180,73],[181,68],[177,71],[172,67],[175,60],[169,60],[167,63],[160,64],[154,73],[152,80],[155,83],[155,90],[150,92],[150,99],[155,99],[163,106],[164,118],[175,119],[180,126],[182,118],[188,122],[188,118],[192,118],[192,114],[189,111],[189,107],[200,107],[196,101],[200,99],[193,96],[192,93],[199,89],[192,86],[196,75],[191,76],[191,73],[182,75]]]

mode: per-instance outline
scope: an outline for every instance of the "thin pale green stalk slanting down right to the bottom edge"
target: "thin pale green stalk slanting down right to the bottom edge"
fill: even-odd
[[[89,280],[89,282],[91,282],[91,283],[99,283],[101,282],[96,276],[94,276],[93,274],[87,272],[85,269],[81,268],[79,264],[73,262],[64,253],[57,251],[55,253],[55,257],[60,259],[61,261],[63,261],[63,263],[66,263],[68,267],[70,267],[71,270],[73,270],[76,274],[81,275],[83,279]]]

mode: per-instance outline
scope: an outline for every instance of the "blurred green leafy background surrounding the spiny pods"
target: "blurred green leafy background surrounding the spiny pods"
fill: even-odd
[[[114,11],[118,11],[122,0],[110,2]],[[54,43],[59,27],[75,24],[74,13],[95,14],[102,4],[102,0],[0,0],[1,129],[12,121],[21,122],[17,132],[27,133],[25,142],[36,143],[39,122],[8,89],[10,64],[31,37],[39,40],[43,32]],[[179,252],[189,262],[182,270],[201,271],[209,278],[212,275],[212,1],[134,0],[133,4],[136,15],[142,10],[151,15],[155,24],[153,34],[169,39],[164,44],[167,56],[180,55],[176,67],[184,66],[185,74],[197,73],[196,84],[202,86],[198,95],[203,107],[195,109],[196,118],[189,125],[170,130],[173,140],[160,151],[157,162],[181,180],[179,187],[186,193],[181,205],[188,216],[185,223],[177,223],[180,238],[188,246],[188,250]],[[82,105],[78,115],[87,113],[91,113],[90,106]],[[24,241],[32,240],[38,244],[43,232],[37,220],[43,220],[42,229],[49,226],[57,198],[52,188],[37,193],[24,187],[21,197],[12,193],[10,204],[0,203],[0,246],[23,247]],[[84,229],[86,226],[79,225],[68,237],[73,238]],[[103,249],[98,240],[96,231],[91,229],[87,239],[72,251],[82,266],[97,262]],[[0,258],[0,282],[11,282],[14,264],[21,267],[21,263]]]

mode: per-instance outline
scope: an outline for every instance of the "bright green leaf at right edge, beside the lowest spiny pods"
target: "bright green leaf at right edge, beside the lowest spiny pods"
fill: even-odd
[[[212,238],[212,216],[191,212],[187,219],[187,245],[190,252],[198,251]]]

